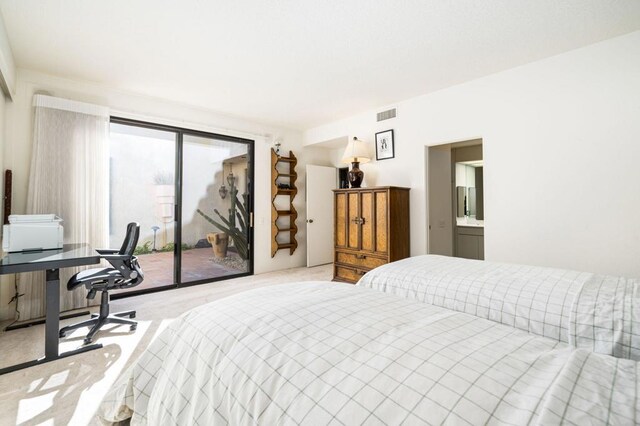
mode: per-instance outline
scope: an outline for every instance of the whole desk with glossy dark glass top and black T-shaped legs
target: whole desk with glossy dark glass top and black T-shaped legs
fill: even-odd
[[[0,375],[102,347],[101,344],[94,344],[64,353],[59,353],[58,350],[60,268],[94,265],[97,263],[100,263],[100,255],[88,244],[65,244],[58,250],[7,253],[0,259],[0,275],[45,271],[46,276],[44,357],[2,368],[0,369]]]

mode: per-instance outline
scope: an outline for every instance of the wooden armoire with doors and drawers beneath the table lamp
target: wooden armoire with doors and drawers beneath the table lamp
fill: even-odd
[[[333,280],[409,257],[409,188],[335,189]]]

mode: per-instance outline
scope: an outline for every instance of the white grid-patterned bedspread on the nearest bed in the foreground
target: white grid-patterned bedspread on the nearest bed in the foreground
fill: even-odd
[[[629,424],[637,363],[362,287],[253,290],[178,318],[111,389],[146,425]]]

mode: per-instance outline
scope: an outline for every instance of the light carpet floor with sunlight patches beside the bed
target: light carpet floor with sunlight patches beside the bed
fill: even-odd
[[[110,386],[173,318],[196,306],[253,288],[331,277],[331,265],[324,265],[115,300],[111,302],[112,312],[137,310],[138,329],[130,332],[128,326],[107,326],[94,340],[104,345],[102,349],[0,376],[0,425],[96,424],[95,412]],[[61,350],[80,347],[86,331],[78,330],[61,340]],[[0,367],[38,358],[43,348],[43,325],[2,332]]]

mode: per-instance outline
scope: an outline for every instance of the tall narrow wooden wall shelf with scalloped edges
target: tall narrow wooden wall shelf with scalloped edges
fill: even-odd
[[[279,164],[284,164],[284,166],[280,166],[278,169]],[[298,188],[296,188],[297,164],[298,159],[293,155],[293,152],[289,151],[289,156],[283,157],[276,154],[273,149],[271,150],[271,257],[274,257],[278,250],[285,249],[289,249],[289,255],[292,255],[298,248],[296,240],[298,212],[293,207],[293,199],[298,194]],[[289,188],[278,188],[278,184],[287,184]],[[276,197],[278,196],[288,197],[288,210],[276,207]],[[282,204],[278,204],[282,206]],[[279,242],[278,235],[284,233],[289,234],[289,240]]]

